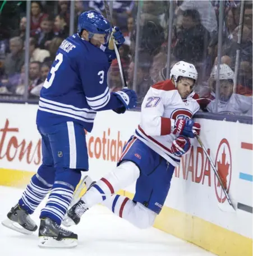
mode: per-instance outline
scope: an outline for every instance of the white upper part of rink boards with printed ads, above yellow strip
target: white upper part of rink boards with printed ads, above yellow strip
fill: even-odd
[[[0,171],[36,172],[42,162],[40,135],[35,125],[38,106],[1,103],[0,108]],[[89,175],[93,179],[116,167],[139,120],[140,112],[98,113],[94,129],[86,137]],[[237,211],[229,211],[222,187],[197,140],[174,171],[165,205],[252,238],[252,125],[197,121],[202,127],[200,138]],[[134,184],[127,188],[132,193],[134,189]]]

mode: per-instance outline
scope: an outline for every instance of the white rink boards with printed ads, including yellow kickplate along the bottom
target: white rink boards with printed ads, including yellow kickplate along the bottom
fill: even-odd
[[[35,105],[0,104],[0,185],[24,187],[39,167],[40,136]],[[116,166],[139,124],[139,112],[98,113],[87,135],[89,175],[99,179]],[[218,255],[252,255],[252,125],[198,119],[201,139],[236,205],[230,212],[203,149],[195,141],[176,168],[155,227]],[[135,186],[119,191],[132,196]]]

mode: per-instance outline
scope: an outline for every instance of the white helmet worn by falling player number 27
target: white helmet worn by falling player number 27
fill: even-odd
[[[169,77],[171,79],[173,77],[175,83],[177,83],[177,79],[180,76],[192,78],[196,81],[197,70],[193,64],[185,61],[179,61],[171,68],[171,74],[169,75]]]

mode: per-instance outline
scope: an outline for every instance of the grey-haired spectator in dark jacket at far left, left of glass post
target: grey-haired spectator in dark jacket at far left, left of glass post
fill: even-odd
[[[23,50],[23,41],[19,36],[10,39],[10,53],[4,60],[4,74],[10,77],[20,73],[21,67],[25,63],[25,52]]]

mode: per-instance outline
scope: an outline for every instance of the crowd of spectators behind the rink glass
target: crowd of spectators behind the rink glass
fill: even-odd
[[[77,16],[104,14],[103,1],[31,1],[30,13],[27,1],[0,4],[0,100],[38,102],[59,45],[76,32]],[[186,61],[199,73],[201,111],[252,116],[252,1],[111,1],[110,8],[125,35],[119,52],[139,106],[151,85]],[[108,84],[121,89],[117,60]]]

